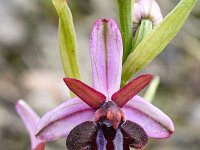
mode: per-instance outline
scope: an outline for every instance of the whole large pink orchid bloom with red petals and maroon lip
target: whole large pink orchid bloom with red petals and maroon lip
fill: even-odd
[[[38,122],[36,136],[44,141],[67,137],[75,149],[143,148],[148,138],[164,139],[174,132],[170,118],[136,94],[152,79],[142,75],[120,89],[122,39],[112,19],[97,20],[90,37],[92,81],[64,78],[77,97],[47,112]]]

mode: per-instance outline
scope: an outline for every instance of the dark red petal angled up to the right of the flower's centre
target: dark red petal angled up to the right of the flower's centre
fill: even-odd
[[[117,104],[118,107],[123,107],[131,98],[147,86],[152,78],[152,75],[146,74],[133,79],[122,89],[115,92],[111,99]]]

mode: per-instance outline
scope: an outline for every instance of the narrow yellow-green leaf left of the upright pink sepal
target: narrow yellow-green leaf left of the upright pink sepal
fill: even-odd
[[[53,0],[59,16],[59,49],[65,76],[80,79],[73,18],[66,0]],[[71,97],[74,94],[71,92]]]

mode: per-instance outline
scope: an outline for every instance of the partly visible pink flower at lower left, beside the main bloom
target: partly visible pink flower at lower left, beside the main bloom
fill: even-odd
[[[23,100],[16,103],[15,109],[21,119],[23,120],[26,128],[28,129],[31,139],[32,150],[44,150],[45,142],[36,138],[35,127],[40,117],[31,109],[31,107]]]

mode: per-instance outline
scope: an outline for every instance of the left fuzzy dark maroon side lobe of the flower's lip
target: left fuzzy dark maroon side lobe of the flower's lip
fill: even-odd
[[[92,121],[84,122],[69,133],[66,146],[68,150],[97,150],[97,126]]]

